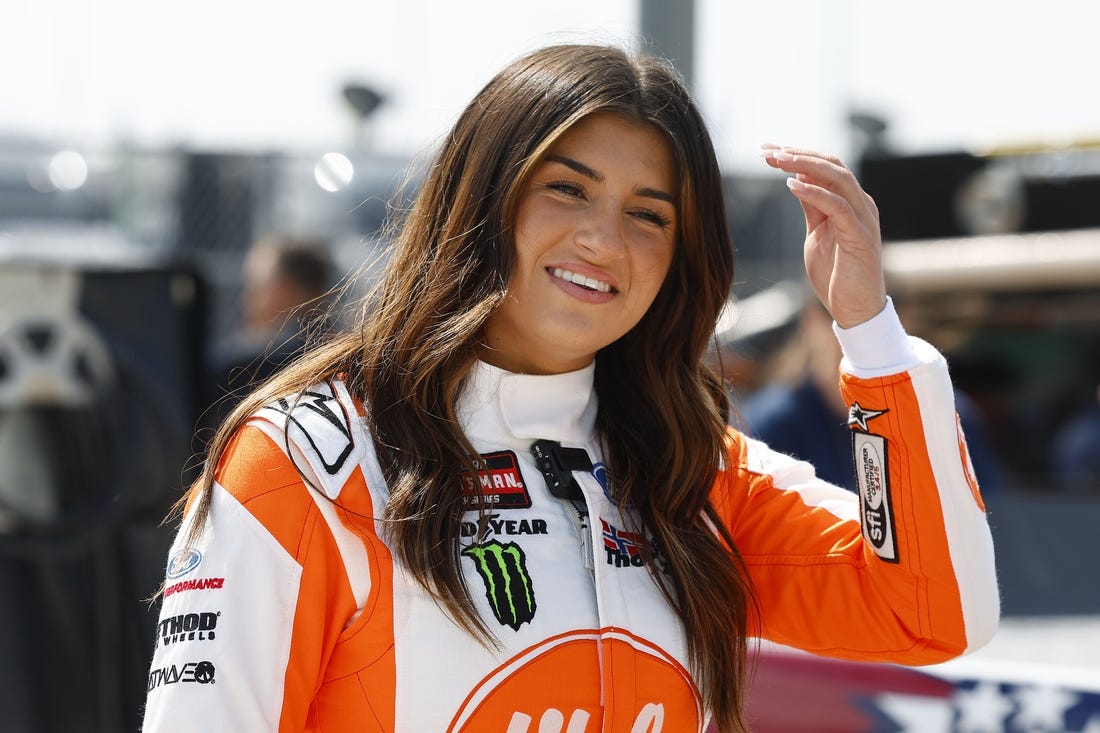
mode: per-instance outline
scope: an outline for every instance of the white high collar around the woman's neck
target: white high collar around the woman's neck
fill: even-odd
[[[458,402],[459,422],[474,446],[480,440],[526,450],[546,438],[586,444],[596,423],[595,362],[564,374],[515,374],[474,363]]]

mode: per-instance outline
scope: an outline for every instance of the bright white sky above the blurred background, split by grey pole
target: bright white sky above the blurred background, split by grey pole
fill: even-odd
[[[844,154],[855,107],[903,150],[1100,139],[1100,6],[1078,0],[697,0],[695,89],[719,155]],[[429,146],[508,61],[632,44],[636,0],[3,0],[0,132],[73,144],[340,147],[349,80],[372,144]]]

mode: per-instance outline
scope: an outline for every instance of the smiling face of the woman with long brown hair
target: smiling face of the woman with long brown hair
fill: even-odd
[[[565,132],[520,192],[515,266],[482,358],[513,372],[573,371],[630,330],[672,262],[675,171],[662,133],[618,114]]]

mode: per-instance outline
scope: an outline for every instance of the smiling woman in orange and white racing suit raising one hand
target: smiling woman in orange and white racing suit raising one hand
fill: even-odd
[[[862,530],[853,494],[727,431],[700,365],[733,258],[682,81],[544,48],[455,123],[359,328],[219,433],[145,730],[743,731],[750,636],[913,664],[985,643],[988,527],[873,203],[835,158],[766,157],[847,353]]]

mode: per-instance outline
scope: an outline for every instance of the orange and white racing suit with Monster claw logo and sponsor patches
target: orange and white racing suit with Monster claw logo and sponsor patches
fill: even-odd
[[[755,587],[754,634],[850,659],[957,656],[999,608],[945,362],[892,306],[839,335],[860,495],[737,433],[714,486]],[[257,413],[199,540],[183,544],[185,518],[173,547],[144,731],[703,731],[648,538],[608,497],[593,372],[479,363],[461,397],[484,461],[464,477],[481,491],[460,564],[495,648],[395,562],[386,484],[342,383]],[[571,474],[583,501],[550,493],[538,439],[586,451]]]

